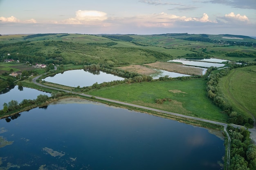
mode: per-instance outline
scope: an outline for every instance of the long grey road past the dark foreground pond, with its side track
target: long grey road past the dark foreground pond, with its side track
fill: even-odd
[[[51,89],[54,89],[54,90],[58,90],[58,91],[65,91],[67,93],[70,93],[71,91],[66,91],[66,90],[62,90],[62,89],[59,89],[59,88],[54,88],[54,87],[49,87],[49,86],[45,86],[43,84],[40,84],[38,82],[36,82],[36,80],[41,77],[42,75],[38,75],[37,77],[33,78],[32,81],[34,84],[38,85],[38,86],[41,86],[41,87],[45,87],[45,88],[51,88]],[[76,93],[76,92],[71,92],[72,94],[77,94],[77,95],[82,95],[82,96],[86,96],[86,97],[92,97],[92,95],[86,95],[86,94],[83,94],[83,93]],[[95,97],[95,96],[94,96]],[[112,100],[112,99],[106,99],[106,98],[103,98],[103,97],[95,97],[96,99],[101,99],[101,100],[105,100],[105,101],[108,101],[108,102],[113,102],[113,103],[117,103],[117,104],[123,104],[123,105],[127,105],[127,106],[133,106],[133,107],[137,107],[137,108],[143,108],[143,109],[146,109],[146,110],[152,110],[152,111],[156,111],[156,112],[159,112],[159,113],[166,113],[166,114],[170,114],[170,115],[175,115],[175,116],[179,116],[179,117],[185,117],[185,118],[189,118],[189,119],[194,119],[194,120],[200,120],[200,121],[204,121],[204,122],[209,122],[209,123],[212,123],[212,124],[218,124],[218,125],[222,125],[224,126],[224,131],[225,133],[227,134],[227,137],[228,137],[228,150],[227,150],[227,169],[228,169],[228,166],[229,166],[229,158],[230,158],[230,137],[229,137],[229,134],[227,132],[227,125],[226,123],[222,123],[222,122],[218,122],[218,121],[212,121],[212,120],[207,120],[207,119],[202,119],[202,118],[199,118],[199,117],[191,117],[191,116],[187,116],[187,115],[181,115],[181,114],[178,114],[178,113],[172,113],[172,112],[168,112],[168,111],[164,111],[164,110],[159,110],[159,109],[155,109],[155,108],[148,108],[148,107],[145,107],[145,106],[139,106],[139,105],[136,105],[136,104],[130,104],[130,103],[126,103],[126,102],[120,102],[120,101],[117,101],[117,100]],[[231,126],[234,126],[235,128],[237,127],[243,127],[243,126],[239,126],[239,125],[235,125],[235,124],[230,124]],[[254,140],[254,143],[256,143],[256,129],[253,128],[253,129],[248,129],[251,134],[251,138]]]

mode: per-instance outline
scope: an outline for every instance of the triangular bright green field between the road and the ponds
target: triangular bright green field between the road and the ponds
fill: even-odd
[[[130,102],[174,113],[226,121],[227,115],[212,104],[206,95],[206,80],[191,79],[185,81],[145,82],[124,84],[103,88],[88,94]],[[163,104],[155,99],[170,99]]]

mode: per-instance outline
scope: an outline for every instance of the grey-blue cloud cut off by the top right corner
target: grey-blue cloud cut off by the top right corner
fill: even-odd
[[[224,4],[234,8],[256,9],[256,0],[209,0],[205,3]]]

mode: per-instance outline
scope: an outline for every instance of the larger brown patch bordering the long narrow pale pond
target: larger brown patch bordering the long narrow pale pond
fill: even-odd
[[[172,71],[172,72],[188,74],[188,75],[202,75],[202,72],[203,72],[202,68],[188,67],[188,66],[183,66],[181,64],[173,64],[169,62],[155,62],[155,63],[144,64],[144,65],[166,70],[166,71]]]

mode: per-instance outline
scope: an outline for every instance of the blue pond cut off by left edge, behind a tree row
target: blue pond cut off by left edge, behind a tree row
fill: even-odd
[[[36,99],[38,95],[51,96],[50,93],[38,91],[34,88],[11,86],[0,93],[0,110],[3,109],[4,103],[8,103],[11,100],[16,100],[20,103],[23,99]]]

